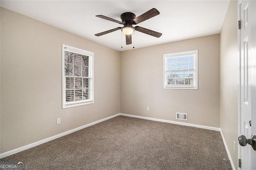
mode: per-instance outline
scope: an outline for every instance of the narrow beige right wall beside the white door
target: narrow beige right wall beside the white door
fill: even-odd
[[[220,32],[220,127],[236,169],[238,160],[237,1],[230,1]],[[233,150],[236,142],[236,153]]]

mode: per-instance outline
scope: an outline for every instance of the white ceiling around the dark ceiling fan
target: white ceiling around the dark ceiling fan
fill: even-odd
[[[104,15],[121,21],[124,12],[133,12],[136,16],[156,8],[160,14],[137,26],[161,32],[155,38],[141,32],[134,32],[134,47],[146,47],[161,43],[174,42],[189,38],[219,34],[229,0],[170,0],[170,1],[86,1],[86,0],[1,0],[2,7],[24,14],[36,20],[66,30],[93,42],[124,51],[133,49],[125,44],[121,30],[103,36],[94,34],[120,27],[96,15]],[[121,41],[122,40],[122,41]],[[121,48],[121,46],[123,46]]]

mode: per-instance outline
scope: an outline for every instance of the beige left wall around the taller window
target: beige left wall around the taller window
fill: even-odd
[[[62,109],[62,43],[94,52],[94,104]],[[1,8],[0,64],[1,153],[120,113],[118,51]]]

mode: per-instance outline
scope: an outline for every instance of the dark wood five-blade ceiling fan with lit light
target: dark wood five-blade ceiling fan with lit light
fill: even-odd
[[[109,20],[109,21],[112,21],[112,22],[116,22],[116,23],[122,24],[124,26],[95,34],[95,36],[102,36],[102,35],[108,34],[110,32],[121,30],[126,35],[126,45],[132,43],[132,33],[135,30],[139,31],[139,32],[142,32],[144,34],[148,34],[150,36],[154,36],[154,37],[159,38],[160,36],[162,36],[162,33],[160,33],[160,32],[152,31],[152,30],[140,27],[140,26],[136,26],[136,27],[132,26],[132,25],[139,24],[140,22],[146,21],[146,20],[148,20],[148,19],[150,19],[154,16],[157,16],[158,14],[160,14],[160,12],[156,8],[152,8],[151,10],[145,12],[144,14],[141,14],[138,17],[136,17],[136,15],[132,12],[125,12],[125,13],[121,14],[122,22],[118,21],[118,20],[114,20],[114,19],[109,18],[107,16],[96,15],[96,17],[99,17],[99,18],[102,18],[102,19],[105,19],[105,20]]]

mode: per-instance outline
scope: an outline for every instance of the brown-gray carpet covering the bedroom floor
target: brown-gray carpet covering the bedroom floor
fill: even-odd
[[[23,161],[26,170],[232,169],[220,132],[123,116],[1,161]]]

